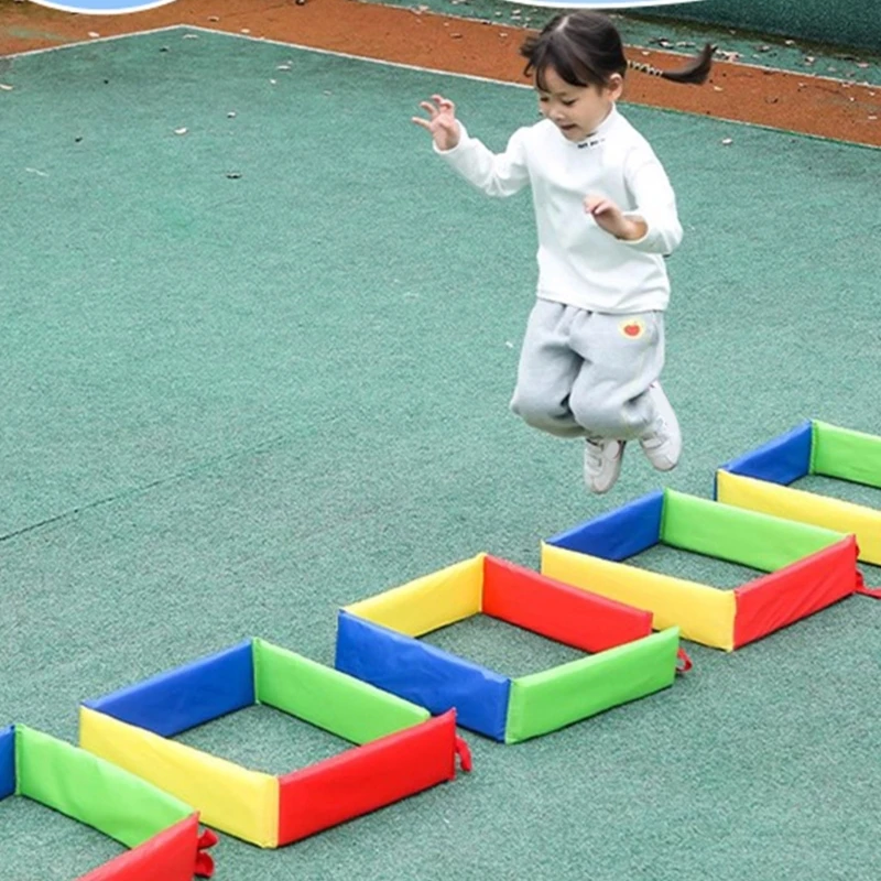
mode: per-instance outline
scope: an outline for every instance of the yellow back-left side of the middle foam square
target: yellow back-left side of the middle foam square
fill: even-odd
[[[346,611],[407,637],[431,633],[480,612],[485,558],[478,554],[347,606]]]

